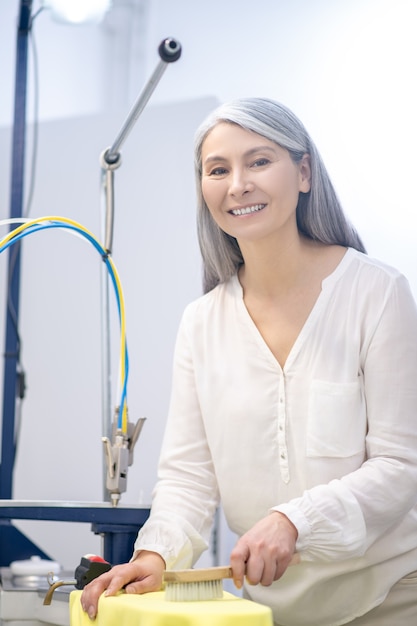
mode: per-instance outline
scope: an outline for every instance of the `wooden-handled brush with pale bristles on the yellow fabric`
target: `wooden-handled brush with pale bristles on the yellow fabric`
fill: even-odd
[[[300,555],[294,554],[289,565],[295,565],[299,561]],[[232,568],[228,566],[165,571],[165,600],[168,602],[217,600],[223,597],[222,581],[232,577]]]

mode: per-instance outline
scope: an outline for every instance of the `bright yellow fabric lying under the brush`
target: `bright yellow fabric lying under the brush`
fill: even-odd
[[[271,610],[224,592],[221,600],[168,602],[163,591],[101,596],[92,622],[81,608],[81,591],[70,596],[70,626],[273,626]]]

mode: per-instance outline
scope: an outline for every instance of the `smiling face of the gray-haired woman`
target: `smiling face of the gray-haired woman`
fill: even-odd
[[[308,155],[294,163],[273,141],[221,122],[203,142],[202,168],[209,211],[239,242],[297,229],[298,196],[310,190]]]

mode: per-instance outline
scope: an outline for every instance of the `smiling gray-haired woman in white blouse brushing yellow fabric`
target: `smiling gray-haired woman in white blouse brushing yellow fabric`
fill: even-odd
[[[417,623],[417,310],[365,255],[299,120],[267,99],[196,137],[205,295],[178,332],[150,519],[88,585],[159,589],[221,501],[237,587],[276,624]]]

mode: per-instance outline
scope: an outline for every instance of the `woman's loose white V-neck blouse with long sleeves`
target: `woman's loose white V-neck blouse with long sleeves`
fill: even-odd
[[[237,276],[186,308],[135,548],[190,567],[220,500],[238,535],[272,509],[298,529],[301,562],[246,586],[279,623],[344,624],[417,570],[417,309],[397,270],[348,249],[283,369]]]

